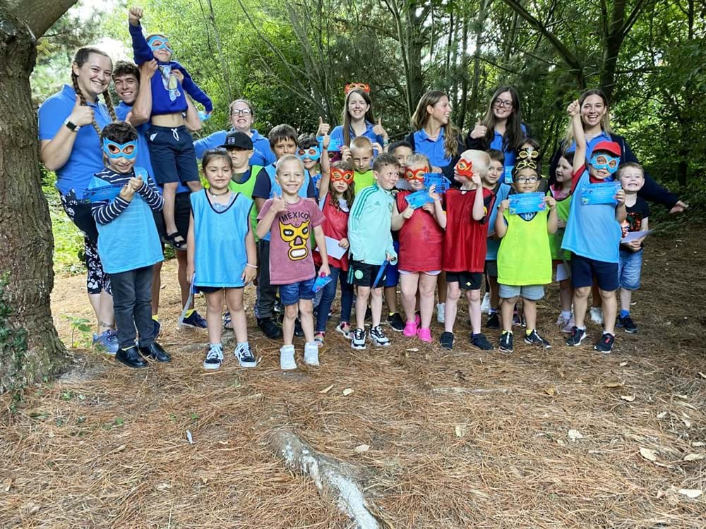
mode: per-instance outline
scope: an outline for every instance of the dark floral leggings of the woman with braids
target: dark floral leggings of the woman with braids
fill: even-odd
[[[67,195],[61,195],[61,205],[64,206],[68,218],[83,232],[85,265],[88,269],[86,276],[88,293],[100,294],[102,291],[112,293],[110,276],[103,271],[103,265],[98,255],[98,230],[90,213],[91,205],[78,202],[73,190],[69,191]]]

